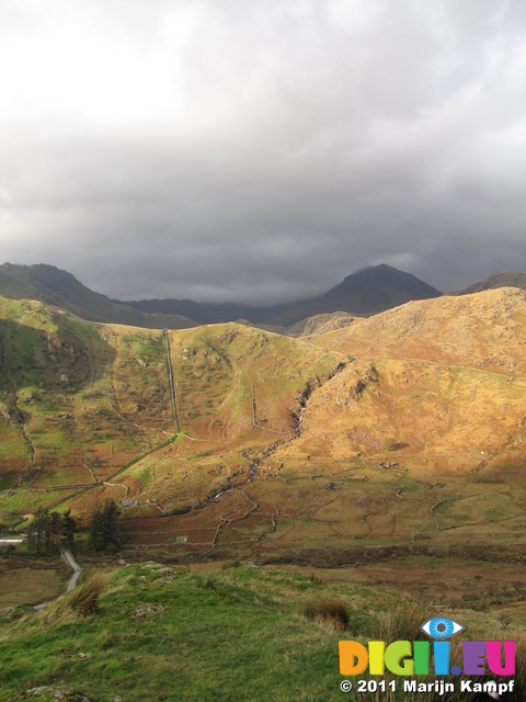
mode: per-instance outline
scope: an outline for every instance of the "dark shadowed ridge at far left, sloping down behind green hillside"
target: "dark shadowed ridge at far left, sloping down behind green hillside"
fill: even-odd
[[[116,305],[105,295],[82,285],[71,273],[55,265],[0,265],[0,295],[9,299],[37,299],[66,309],[82,319],[148,328],[195,326],[181,316],[145,315],[127,305]]]

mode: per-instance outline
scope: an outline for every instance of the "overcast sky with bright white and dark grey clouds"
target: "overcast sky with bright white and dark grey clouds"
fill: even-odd
[[[526,270],[524,0],[1,0],[0,263],[273,304]]]

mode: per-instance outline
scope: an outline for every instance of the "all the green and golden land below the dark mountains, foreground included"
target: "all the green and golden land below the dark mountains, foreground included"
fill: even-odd
[[[3,545],[0,700],[55,699],[56,682],[66,700],[79,686],[167,700],[173,684],[213,700],[196,682],[209,670],[220,699],[341,699],[342,632],[306,614],[331,598],[350,613],[344,637],[412,638],[448,611],[473,635],[514,637],[522,666],[525,320],[517,288],[323,316],[299,338],[0,299],[0,533],[70,510],[82,567],[34,612],[70,568]],[[111,500],[118,544],[96,552],[93,516]],[[274,660],[298,642],[291,673],[263,666],[258,694],[253,666],[232,664],[238,646]]]

